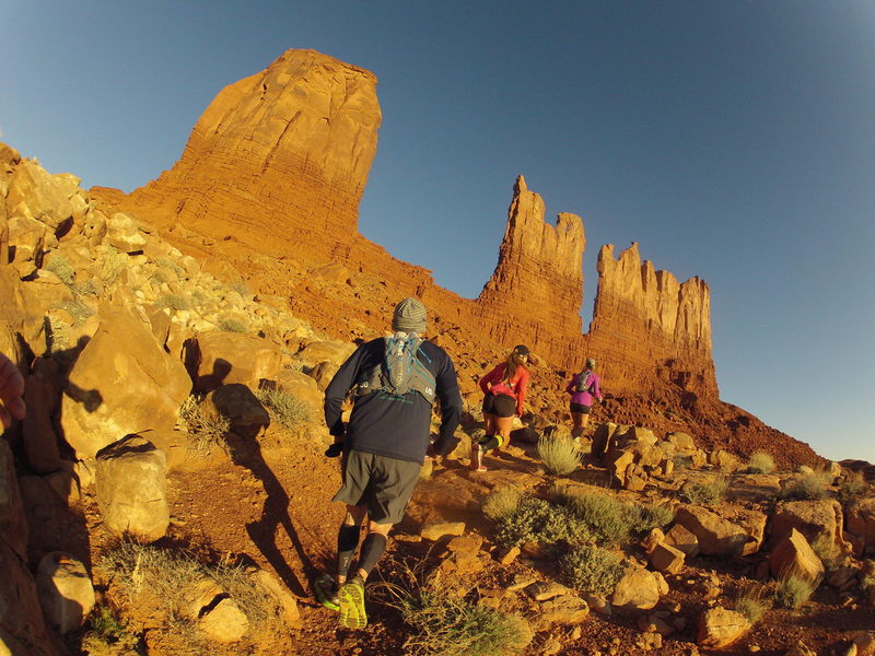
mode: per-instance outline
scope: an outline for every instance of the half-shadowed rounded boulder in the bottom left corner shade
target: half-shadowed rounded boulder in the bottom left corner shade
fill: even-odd
[[[94,586],[85,565],[63,551],[43,557],[36,585],[46,620],[61,634],[79,629],[94,608]]]

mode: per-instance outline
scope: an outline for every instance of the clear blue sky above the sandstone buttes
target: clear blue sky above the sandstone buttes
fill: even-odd
[[[711,288],[721,397],[875,461],[875,3],[0,0],[0,140],[83,186],[170,168],[288,48],[380,79],[360,230],[476,296],[523,174]]]

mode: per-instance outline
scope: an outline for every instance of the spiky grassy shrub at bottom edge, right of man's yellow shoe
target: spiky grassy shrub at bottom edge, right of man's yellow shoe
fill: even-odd
[[[386,606],[401,612],[411,629],[404,653],[411,656],[510,656],[532,641],[528,623],[515,614],[480,606],[459,597],[440,575],[421,579],[421,571],[407,565],[396,582],[372,588]],[[381,567],[381,575],[384,567]]]

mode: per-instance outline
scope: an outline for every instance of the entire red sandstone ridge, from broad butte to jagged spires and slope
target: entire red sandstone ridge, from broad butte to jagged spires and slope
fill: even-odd
[[[768,447],[786,464],[816,459],[807,445],[720,401],[708,285],[654,270],[637,244],[618,259],[614,246],[600,249],[593,320],[582,333],[583,223],[570,213],[555,225],[545,221],[544,201],[522,176],[498,265],[476,300],[438,286],[427,269],[362,237],[359,201],[382,120],[376,83],[355,66],[289,50],[219,93],[171,171],[127,196],[100,187],[92,196],[152,223],[183,249],[218,255],[257,291],[289,298],[294,312],[337,337],[382,331],[392,303],[422,298],[460,363],[463,391],[474,394],[482,362],[525,342],[545,361],[535,379],[544,408],[564,407],[560,378],[593,356],[612,395],[605,413],[616,421],[685,430],[704,447],[740,454]],[[199,244],[180,236],[180,226],[201,235]],[[233,247],[222,248],[228,241]],[[258,263],[264,256],[299,271],[339,262],[353,272],[355,289],[326,297],[306,281],[292,288],[291,273],[278,277]]]

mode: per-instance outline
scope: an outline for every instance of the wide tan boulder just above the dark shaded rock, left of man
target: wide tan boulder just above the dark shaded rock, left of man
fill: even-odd
[[[232,383],[258,389],[262,379],[276,379],[283,362],[275,344],[241,332],[199,332],[185,344],[186,367],[203,393]]]

